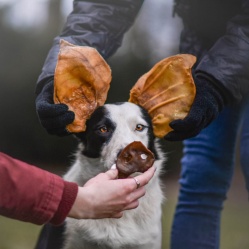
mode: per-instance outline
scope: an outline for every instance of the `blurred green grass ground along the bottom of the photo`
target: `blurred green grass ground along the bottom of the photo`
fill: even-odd
[[[169,248],[170,226],[172,223],[177,191],[177,180],[167,180],[166,192],[168,201],[164,207],[163,215],[163,249]],[[249,248],[249,203],[247,199],[247,192],[245,191],[241,174],[240,172],[236,172],[223,211],[220,249]],[[0,216],[0,249],[34,248],[40,229],[40,226]]]

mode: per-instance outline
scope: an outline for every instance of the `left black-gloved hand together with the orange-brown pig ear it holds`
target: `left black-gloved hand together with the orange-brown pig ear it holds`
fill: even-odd
[[[36,98],[42,126],[59,136],[84,131],[86,120],[105,103],[111,78],[96,49],[61,40],[54,77],[43,82]]]

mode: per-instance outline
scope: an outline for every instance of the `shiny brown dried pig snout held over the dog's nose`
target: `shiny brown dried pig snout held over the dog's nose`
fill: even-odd
[[[118,178],[127,178],[135,172],[145,172],[154,163],[154,154],[141,142],[134,141],[119,154],[116,162]]]

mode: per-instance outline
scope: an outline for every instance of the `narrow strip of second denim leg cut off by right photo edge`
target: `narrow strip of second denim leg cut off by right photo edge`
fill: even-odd
[[[243,125],[241,130],[240,162],[249,192],[249,101],[246,103]]]

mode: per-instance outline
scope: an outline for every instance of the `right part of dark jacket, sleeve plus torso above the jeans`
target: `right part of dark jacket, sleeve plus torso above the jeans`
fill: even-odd
[[[183,20],[180,52],[197,56],[196,74],[214,78],[227,102],[249,93],[249,1],[175,0]]]

